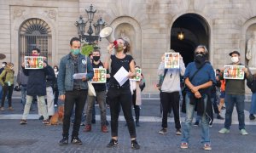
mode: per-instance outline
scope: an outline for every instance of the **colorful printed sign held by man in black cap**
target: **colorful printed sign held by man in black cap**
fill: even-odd
[[[224,65],[224,79],[240,79],[244,78],[244,65]]]

